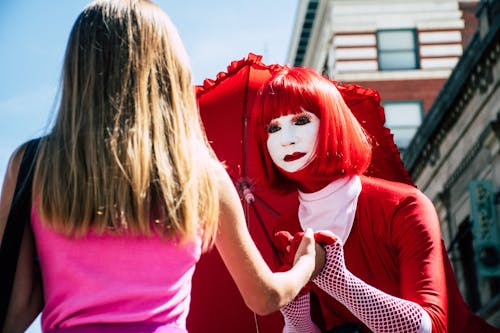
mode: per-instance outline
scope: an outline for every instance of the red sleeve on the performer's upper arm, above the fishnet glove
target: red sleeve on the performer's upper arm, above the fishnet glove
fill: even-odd
[[[447,332],[447,288],[439,219],[420,191],[405,197],[394,211],[392,237],[398,248],[400,290],[420,304],[432,320],[432,332]]]

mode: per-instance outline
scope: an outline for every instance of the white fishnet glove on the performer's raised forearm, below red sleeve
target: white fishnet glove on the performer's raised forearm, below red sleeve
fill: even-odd
[[[420,333],[428,329],[430,317],[420,305],[388,295],[347,270],[340,240],[325,246],[325,251],[325,267],[313,282],[347,307],[370,330]]]

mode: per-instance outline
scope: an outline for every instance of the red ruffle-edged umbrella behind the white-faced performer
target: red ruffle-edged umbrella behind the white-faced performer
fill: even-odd
[[[267,263],[276,267],[271,235],[297,219],[298,201],[296,193],[283,196],[270,192],[255,164],[257,150],[248,126],[253,103],[262,83],[283,68],[265,65],[261,59],[249,54],[232,62],[226,72],[215,80],[205,80],[196,92],[208,139],[240,193],[250,234]],[[372,137],[374,158],[367,174],[412,184],[392,135],[384,127],[378,93],[356,85],[333,84]],[[261,317],[246,307],[216,249],[202,256],[193,277],[190,332],[281,332],[282,325],[279,312]]]

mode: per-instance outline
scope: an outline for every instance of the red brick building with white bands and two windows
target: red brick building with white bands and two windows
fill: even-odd
[[[404,152],[475,31],[476,5],[299,0],[288,63],[377,89]]]

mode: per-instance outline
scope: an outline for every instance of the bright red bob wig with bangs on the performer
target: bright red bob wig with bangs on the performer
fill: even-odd
[[[288,192],[296,184],[287,179],[267,151],[267,126],[283,115],[314,113],[320,119],[318,141],[307,175],[330,179],[361,175],[371,161],[371,144],[364,129],[329,79],[309,68],[283,68],[259,89],[252,114],[260,164],[271,188]]]

